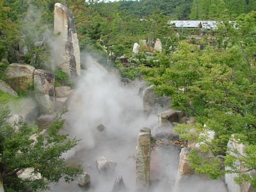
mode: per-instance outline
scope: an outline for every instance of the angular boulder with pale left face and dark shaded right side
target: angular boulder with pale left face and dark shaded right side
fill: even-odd
[[[184,116],[183,111],[164,111],[158,114],[159,127],[166,127],[172,125],[173,123],[180,122],[180,119]]]

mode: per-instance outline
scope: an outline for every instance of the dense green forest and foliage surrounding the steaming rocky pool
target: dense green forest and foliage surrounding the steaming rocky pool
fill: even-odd
[[[177,124],[180,136],[204,141],[204,150],[211,150],[215,156],[224,156],[224,164],[231,167],[223,170],[220,159],[205,160],[194,151],[191,162],[196,173],[207,173],[212,179],[220,178],[226,172],[238,173],[238,183],[248,181],[256,188],[256,177],[248,174],[256,170],[256,0],[124,0],[113,3],[96,0],[0,0],[0,79],[5,81],[4,70],[10,63],[49,69],[51,52],[48,43],[54,38],[56,2],[67,5],[74,14],[82,52],[96,52],[101,56],[100,62],[108,62],[109,66],[118,68],[122,77],[144,79],[154,84],[160,95],[172,97],[172,108],[185,111],[187,117],[195,116],[197,121],[193,133],[189,132],[189,125]],[[221,22],[218,29],[202,31],[172,28],[168,20]],[[201,36],[200,40],[195,38],[196,35]],[[156,38],[162,41],[162,52],[152,49]],[[132,46],[140,40],[147,40],[147,45],[141,46],[139,53],[134,54]],[[35,42],[43,43],[36,46]],[[121,56],[127,58],[129,65],[120,61]],[[12,98],[0,93],[0,104],[4,106]],[[24,97],[24,93],[19,94]],[[17,135],[4,124],[6,113],[1,108],[0,154],[5,150],[9,156],[3,159],[0,156],[0,173],[3,164],[15,169],[28,166],[28,161],[33,159],[32,156],[25,159],[25,165],[18,163],[19,159],[13,160],[16,167],[8,159],[19,150],[17,145],[9,145],[15,138],[17,143],[28,145],[25,140],[30,128],[24,125],[23,131]],[[51,140],[61,143],[67,139],[58,138],[56,134],[62,124],[60,119],[56,120],[49,143]],[[204,137],[198,137],[207,129],[216,133],[211,143],[207,143]],[[227,153],[231,135],[248,146],[244,150],[246,156],[238,158],[244,165],[243,172],[234,166],[237,158]],[[68,141],[60,148],[54,148],[52,153],[66,151],[76,143],[76,140]],[[36,147],[43,145],[40,143]],[[47,156],[43,150],[35,151],[33,156],[40,156],[40,153]],[[64,166],[61,168],[65,169]],[[48,171],[45,168],[46,175],[50,174]],[[66,170],[66,173],[71,177],[75,171],[81,172],[81,169]],[[59,176],[53,175],[49,180],[56,181]],[[44,180],[37,184],[17,180],[14,183],[6,177],[4,184],[4,188],[10,191],[19,191],[20,186],[21,190],[45,189]]]

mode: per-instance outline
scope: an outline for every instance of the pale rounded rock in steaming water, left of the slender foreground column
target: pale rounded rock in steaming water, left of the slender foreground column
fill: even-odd
[[[115,170],[116,162],[112,160],[106,159],[104,156],[100,156],[97,158],[96,167],[99,170],[99,173],[108,173]]]

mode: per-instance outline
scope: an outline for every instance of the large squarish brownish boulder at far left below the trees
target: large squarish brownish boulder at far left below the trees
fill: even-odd
[[[31,65],[13,63],[6,68],[5,75],[13,90],[27,92],[33,87],[34,72],[35,67]]]

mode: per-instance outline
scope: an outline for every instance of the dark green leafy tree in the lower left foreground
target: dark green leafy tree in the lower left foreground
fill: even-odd
[[[2,93],[1,97],[5,97]],[[10,95],[9,95],[10,99]],[[6,124],[8,110],[1,103],[0,109],[0,188],[15,191],[28,189],[47,189],[50,182],[58,182],[64,177],[68,182],[83,170],[68,166],[61,154],[77,145],[76,138],[61,135],[64,120],[56,116],[54,124],[46,132],[40,132],[27,124],[19,124],[19,131]],[[16,173],[33,168],[33,173],[41,175],[38,179],[19,179]]]

